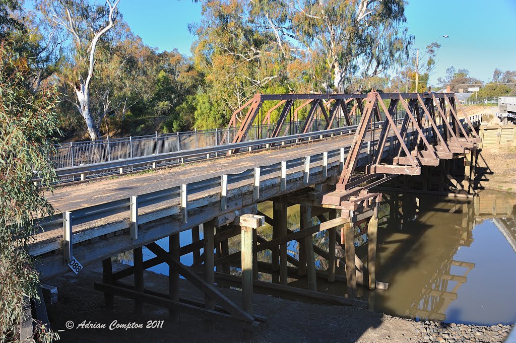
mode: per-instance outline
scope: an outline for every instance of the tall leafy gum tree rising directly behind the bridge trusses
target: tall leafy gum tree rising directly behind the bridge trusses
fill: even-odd
[[[275,3],[269,0],[269,3]],[[272,29],[294,39],[324,74],[322,87],[359,91],[362,80],[408,56],[405,0],[284,0],[286,15],[267,14]]]

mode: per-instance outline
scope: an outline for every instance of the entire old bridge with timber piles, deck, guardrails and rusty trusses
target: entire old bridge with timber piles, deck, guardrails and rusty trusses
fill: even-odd
[[[278,109],[278,123],[268,138],[246,141],[249,127],[266,102],[273,105],[265,116],[262,111],[259,120],[270,121],[271,111]],[[257,94],[233,114],[230,124],[236,128],[237,116],[245,111],[231,143],[57,170],[60,177],[80,175],[85,179],[92,173],[156,168],[164,161],[182,164],[206,157],[153,173],[56,189],[48,199],[57,212],[41,219],[42,232],[35,236],[30,253],[38,258],[42,280],[70,268],[77,271],[78,263],[87,267],[102,260],[104,276],[95,288],[104,292],[108,306],[117,295],[134,299],[137,312],[148,302],[168,307],[174,314],[204,316],[209,325],[217,320],[236,321],[245,332],[265,320],[253,315],[253,287],[320,299],[317,278],[325,277],[346,282],[348,292],[347,298],[325,296],[326,300],[367,307],[367,301],[356,299],[357,284],[386,287],[376,281],[374,271],[378,205],[382,202],[379,187],[457,197],[473,194],[481,144],[475,127],[481,118],[470,118],[457,106],[461,107],[453,93]],[[285,135],[288,118],[298,120],[303,107],[308,115],[302,132]],[[396,119],[398,107],[405,115]],[[353,116],[360,117],[358,125],[351,125]],[[317,117],[326,121],[325,129],[310,132]],[[341,119],[348,125],[332,128]],[[461,165],[458,161],[464,161],[462,166],[457,167]],[[400,180],[398,175],[412,177]],[[257,210],[258,203],[270,200],[272,218]],[[301,205],[300,230],[296,232],[286,225],[287,207],[294,204]],[[314,217],[320,224],[313,225]],[[259,234],[265,222],[273,226],[270,241]],[[357,223],[367,224],[366,264],[354,252]],[[313,234],[325,230],[330,237],[329,251],[312,242]],[[192,243],[180,246],[179,233],[184,231],[191,231]],[[241,235],[241,251],[230,254],[228,239],[237,235]],[[169,237],[170,252],[156,244],[165,237]],[[300,242],[299,259],[287,254],[287,243],[292,240]],[[156,257],[143,261],[143,246]],[[206,253],[215,248],[216,253]],[[257,259],[257,252],[265,249],[272,251],[269,265]],[[134,266],[113,273],[111,257],[128,250],[133,250]],[[180,256],[192,252],[193,266],[183,265]],[[314,254],[327,260],[328,270],[316,270]],[[144,288],[142,275],[144,269],[164,262],[170,266],[170,292],[158,295]],[[230,274],[230,267],[235,266],[241,268],[241,276]],[[270,273],[273,282],[258,280],[259,271]],[[308,289],[288,286],[287,278],[293,273],[307,277]],[[130,275],[134,275],[133,285],[119,282]],[[180,301],[179,275],[205,294],[205,303]],[[224,297],[216,280],[238,283],[242,305]]]

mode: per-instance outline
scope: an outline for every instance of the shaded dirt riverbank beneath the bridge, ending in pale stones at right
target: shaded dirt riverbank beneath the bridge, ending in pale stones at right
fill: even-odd
[[[114,264],[115,270],[122,265]],[[202,341],[204,323],[201,318],[182,315],[179,324],[171,322],[168,310],[144,305],[143,315],[133,315],[134,302],[115,298],[115,308],[104,306],[102,293],[93,290],[93,283],[102,280],[101,264],[88,266],[78,275],[68,273],[48,283],[58,288],[58,302],[47,307],[51,326],[59,332],[63,342],[198,342]],[[146,287],[167,292],[168,276],[145,271]],[[123,280],[131,282],[131,278]],[[182,282],[182,296],[201,298],[200,293]],[[235,302],[240,292],[222,289]],[[433,322],[415,322],[361,308],[328,306],[300,301],[255,295],[256,314],[267,317],[267,323],[255,333],[252,342],[501,342],[510,326],[456,325]],[[163,320],[159,329],[110,330],[118,323],[141,323]],[[67,322],[73,329],[67,329]],[[88,325],[90,324],[90,325]],[[102,324],[106,328],[101,328]],[[70,326],[70,323],[68,324]],[[94,328],[87,328],[94,326]],[[116,325],[115,325],[116,326]],[[239,342],[241,331],[231,325],[216,324],[209,342]]]

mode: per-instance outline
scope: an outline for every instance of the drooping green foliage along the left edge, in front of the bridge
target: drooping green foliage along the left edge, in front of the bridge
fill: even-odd
[[[26,247],[35,219],[53,211],[31,179],[37,170],[44,184],[54,180],[47,137],[56,134],[58,99],[53,86],[30,91],[34,71],[9,43],[0,43],[0,55],[0,341],[18,342],[25,338],[17,330],[22,304],[38,298],[39,275]],[[37,331],[39,341],[57,337],[41,323]]]

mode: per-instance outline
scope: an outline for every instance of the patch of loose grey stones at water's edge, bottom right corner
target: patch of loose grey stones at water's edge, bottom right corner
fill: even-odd
[[[415,322],[416,342],[503,342],[509,335],[512,325],[464,325],[437,323],[431,321]]]

